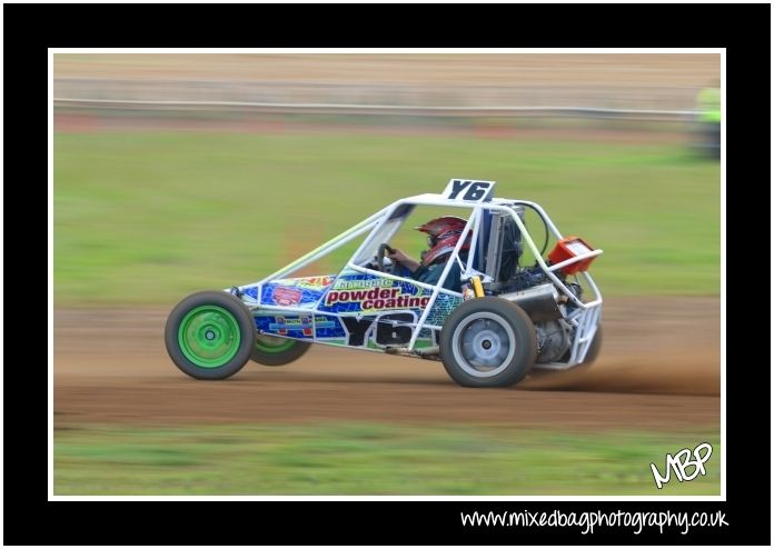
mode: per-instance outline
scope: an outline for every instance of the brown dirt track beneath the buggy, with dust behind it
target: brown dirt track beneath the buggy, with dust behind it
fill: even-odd
[[[605,342],[592,370],[495,390],[454,385],[440,362],[324,346],[286,367],[248,363],[227,381],[196,381],[167,357],[166,313],[54,312],[57,427],[330,419],[592,429],[720,423],[716,299],[608,300]]]

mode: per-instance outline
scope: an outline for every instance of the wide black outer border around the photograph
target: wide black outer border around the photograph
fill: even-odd
[[[48,47],[705,47],[727,48],[727,210],[744,207],[748,234],[770,181],[770,13],[767,4],[4,4],[6,249],[14,258],[6,273],[12,326],[40,322],[30,299],[42,295],[42,266],[27,261],[44,224],[30,222],[47,180],[40,160],[47,90]],[[32,99],[34,98],[34,100]],[[746,114],[742,104],[747,106]],[[732,161],[733,159],[733,161]],[[34,176],[32,176],[34,173]],[[40,183],[38,182],[40,181]],[[34,181],[33,184],[28,184]],[[21,184],[19,184],[21,182]],[[740,182],[737,184],[737,182]],[[746,186],[741,184],[746,182]],[[22,191],[23,189],[23,191]],[[755,189],[755,190],[753,190]],[[737,197],[746,191],[743,203]],[[23,192],[23,193],[22,193]],[[22,223],[18,216],[24,216]],[[766,219],[761,213],[757,219]],[[13,223],[13,224],[11,224]],[[728,242],[738,227],[728,223]],[[740,231],[741,232],[741,231]],[[19,238],[21,237],[21,238]],[[36,237],[36,238],[30,238]],[[742,237],[742,234],[740,234]],[[32,246],[30,246],[32,244]],[[731,244],[730,244],[731,246]],[[763,248],[763,247],[761,247]],[[41,252],[42,254],[42,252]],[[37,256],[37,253],[36,253]],[[757,259],[761,258],[751,258]],[[18,267],[22,266],[19,272]],[[742,271],[743,273],[745,271]],[[16,276],[13,276],[16,274]],[[733,299],[750,286],[728,263],[728,319],[747,318]],[[29,288],[30,291],[23,291]],[[747,295],[750,298],[750,295]],[[14,303],[19,300],[18,303]],[[748,300],[746,301],[748,303]],[[765,306],[764,306],[765,308]],[[32,312],[34,311],[34,312]],[[10,317],[6,317],[9,343]],[[736,341],[750,342],[753,321],[735,340],[728,322],[730,357]],[[747,432],[771,433],[770,369],[730,360],[727,368],[727,502],[48,502],[43,437],[46,369],[12,351],[40,349],[41,335],[24,346],[7,345],[4,401],[4,541],[13,545],[544,545],[544,543],[770,543],[770,445]],[[753,330],[756,333],[763,330]],[[754,338],[760,339],[760,338]],[[750,348],[747,346],[746,348]],[[744,369],[740,368],[744,367]],[[751,372],[750,368],[755,371]],[[36,379],[33,385],[30,373]],[[754,382],[751,382],[754,377]],[[33,420],[34,418],[34,420]],[[751,421],[751,418],[754,420]],[[768,471],[768,472],[767,472]],[[763,492],[763,493],[762,493]],[[768,502],[768,505],[766,503]],[[634,536],[606,529],[582,536],[570,529],[513,531],[464,529],[463,510],[723,510],[728,528]],[[24,519],[24,520],[22,520]],[[291,522],[288,519],[295,520]],[[32,526],[30,527],[30,521]],[[351,525],[357,523],[355,530]],[[106,533],[107,532],[107,533]]]

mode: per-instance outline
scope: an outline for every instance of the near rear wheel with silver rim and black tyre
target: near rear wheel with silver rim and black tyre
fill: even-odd
[[[522,381],[537,356],[535,326],[510,301],[484,297],[465,301],[440,330],[440,359],[464,387],[506,387]]]

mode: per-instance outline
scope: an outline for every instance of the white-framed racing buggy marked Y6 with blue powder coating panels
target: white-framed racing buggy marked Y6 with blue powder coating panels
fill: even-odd
[[[589,365],[602,341],[602,295],[588,268],[602,250],[563,237],[534,202],[494,198],[495,187],[453,179],[441,194],[397,200],[258,282],[187,297],[167,320],[169,356],[194,378],[225,379],[250,360],[281,366],[325,343],[439,360],[466,387]],[[434,285],[386,257],[418,206],[455,208],[467,218]],[[540,249],[528,211],[529,224],[537,218],[543,229],[534,231]],[[337,273],[291,277],[357,238]],[[527,257],[533,264],[523,264]],[[459,291],[444,287],[455,262]]]

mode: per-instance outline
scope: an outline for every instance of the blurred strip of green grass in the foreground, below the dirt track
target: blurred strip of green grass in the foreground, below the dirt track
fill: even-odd
[[[649,463],[699,442],[707,475],[657,490]],[[720,432],[566,433],[368,423],[91,427],[54,433],[62,495],[720,493]],[[688,472],[693,470],[689,469]]]

